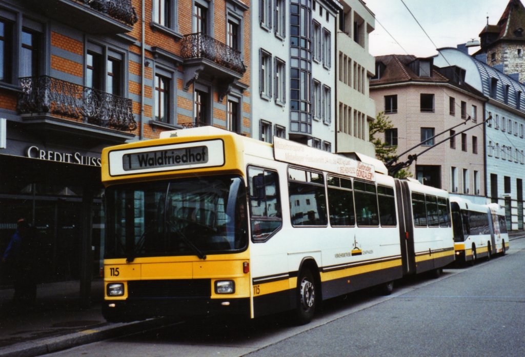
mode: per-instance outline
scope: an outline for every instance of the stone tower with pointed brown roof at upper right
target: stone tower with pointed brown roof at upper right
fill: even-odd
[[[479,34],[487,64],[506,75],[519,74],[525,81],[525,7],[520,0],[510,0],[496,25],[487,25]]]

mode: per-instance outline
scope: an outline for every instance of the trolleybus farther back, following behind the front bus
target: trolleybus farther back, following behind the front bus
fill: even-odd
[[[505,254],[509,248],[505,208],[497,203],[479,205],[460,197],[450,197],[450,206],[458,262],[474,265],[479,258]]]

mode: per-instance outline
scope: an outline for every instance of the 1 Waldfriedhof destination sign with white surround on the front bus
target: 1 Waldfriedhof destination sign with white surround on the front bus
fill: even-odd
[[[209,140],[116,150],[109,153],[110,175],[185,170],[224,165],[224,143]]]

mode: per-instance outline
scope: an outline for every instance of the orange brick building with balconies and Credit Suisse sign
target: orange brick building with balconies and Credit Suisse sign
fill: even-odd
[[[250,17],[247,0],[3,1],[0,251],[24,217],[39,281],[88,284],[103,147],[196,125],[249,135]]]

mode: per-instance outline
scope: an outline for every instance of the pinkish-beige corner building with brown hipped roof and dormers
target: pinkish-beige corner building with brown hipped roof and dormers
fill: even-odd
[[[482,93],[465,83],[464,72],[437,68],[432,58],[388,55],[375,61],[370,95],[393,124],[384,141],[397,146],[397,162],[410,162],[405,170],[426,185],[474,201],[484,196]]]

